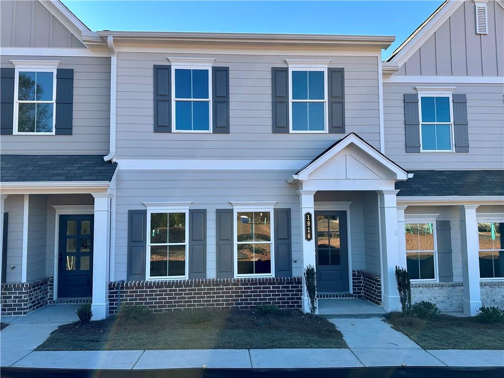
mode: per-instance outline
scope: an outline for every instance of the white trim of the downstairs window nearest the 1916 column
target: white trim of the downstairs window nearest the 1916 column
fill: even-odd
[[[252,277],[275,277],[275,212],[274,206],[277,201],[258,202],[230,202],[233,205],[233,263],[234,278]],[[269,212],[271,227],[271,273],[269,274],[238,274],[238,242],[237,242],[237,213],[242,212]]]

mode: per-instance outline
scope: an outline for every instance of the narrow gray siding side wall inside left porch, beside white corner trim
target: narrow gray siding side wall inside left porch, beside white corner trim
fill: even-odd
[[[47,196],[30,195],[26,280],[45,277]]]

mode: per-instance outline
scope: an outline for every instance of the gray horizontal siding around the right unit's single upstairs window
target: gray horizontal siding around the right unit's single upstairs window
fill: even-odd
[[[406,153],[404,93],[457,87],[467,95],[468,153]],[[504,169],[504,84],[384,84],[385,153],[404,169]]]

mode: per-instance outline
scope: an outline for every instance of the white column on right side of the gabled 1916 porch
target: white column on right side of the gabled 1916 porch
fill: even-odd
[[[399,191],[378,192],[380,206],[380,239],[382,244],[382,296],[383,308],[386,311],[394,311],[401,308],[396,284],[396,265],[401,265],[397,231],[397,192]]]

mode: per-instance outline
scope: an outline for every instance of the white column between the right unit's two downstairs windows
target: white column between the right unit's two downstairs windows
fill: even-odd
[[[460,239],[462,244],[462,278],[464,280],[464,313],[475,315],[481,307],[479,287],[478,224],[476,208],[478,205],[460,207]]]

